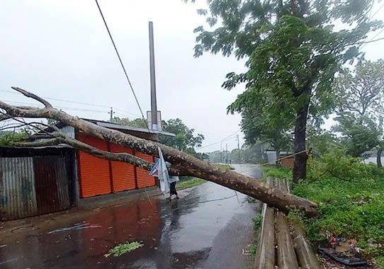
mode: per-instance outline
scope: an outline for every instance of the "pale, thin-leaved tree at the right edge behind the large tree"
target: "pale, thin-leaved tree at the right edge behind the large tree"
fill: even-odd
[[[383,151],[384,61],[361,61],[354,71],[345,69],[337,78],[339,124],[334,130],[344,135],[343,142],[351,156],[361,157],[376,147],[377,165]]]

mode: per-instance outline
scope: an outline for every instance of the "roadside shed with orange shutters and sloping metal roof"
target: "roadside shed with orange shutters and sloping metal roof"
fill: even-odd
[[[113,122],[102,120],[88,120],[96,125],[109,129],[125,132],[135,137],[158,141],[159,135],[175,136],[169,132],[158,132],[140,127],[118,125]],[[82,132],[76,132],[73,127],[64,125],[61,122],[56,125],[66,135],[89,144],[98,149],[111,152],[127,152],[147,161],[154,161],[154,157],[140,151],[121,147],[118,144],[106,142],[105,140],[91,137]],[[108,161],[91,156],[83,151],[77,151],[77,167],[79,175],[79,198],[90,198],[96,195],[118,193],[126,190],[153,187],[157,181],[149,172],[120,161]]]

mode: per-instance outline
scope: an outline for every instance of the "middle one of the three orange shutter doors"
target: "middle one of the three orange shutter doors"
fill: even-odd
[[[132,149],[109,143],[111,152],[132,154]],[[113,192],[132,190],[135,186],[135,168],[122,161],[111,161]]]

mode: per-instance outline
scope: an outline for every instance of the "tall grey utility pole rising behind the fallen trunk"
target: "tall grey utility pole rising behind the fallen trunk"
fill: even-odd
[[[154,44],[153,44],[153,23],[149,21],[149,70],[151,74],[151,122],[152,130],[157,127],[157,100],[156,100],[156,77],[154,75]]]

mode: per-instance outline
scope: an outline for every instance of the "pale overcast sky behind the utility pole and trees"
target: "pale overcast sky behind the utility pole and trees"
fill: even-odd
[[[205,146],[218,142],[201,151],[220,150],[220,140],[239,130],[239,115],[227,115],[226,108],[243,90],[225,91],[221,84],[230,71],[244,71],[244,61],[210,54],[193,58],[193,29],[204,22],[196,9],[204,8],[205,1],[98,2],[142,110],[150,109],[148,21],[153,21],[157,108],[162,118],[181,118],[205,135]],[[94,104],[50,99],[57,108],[79,117],[108,120],[111,106],[118,117],[140,116],[95,1],[3,0],[1,4],[1,100],[33,104],[8,92],[10,86],[18,86],[47,98]],[[384,8],[374,18],[384,19]],[[377,38],[383,37],[381,33]],[[384,40],[363,50],[368,59],[380,59],[383,46]],[[235,137],[222,147],[226,143],[228,149],[237,147]]]

